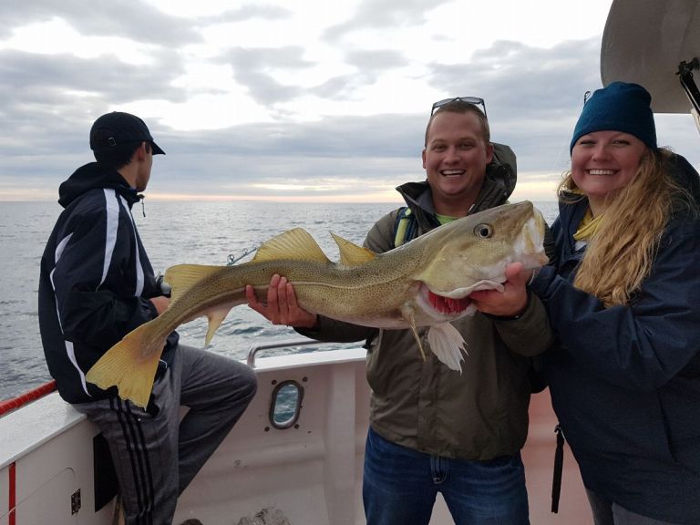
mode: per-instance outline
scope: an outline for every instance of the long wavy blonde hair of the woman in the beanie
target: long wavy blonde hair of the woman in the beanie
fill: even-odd
[[[667,221],[678,207],[695,212],[693,197],[668,170],[673,153],[647,149],[633,180],[608,195],[601,224],[589,242],[574,286],[592,293],[605,307],[629,304],[652,270]],[[558,188],[561,201],[581,199],[571,172]]]

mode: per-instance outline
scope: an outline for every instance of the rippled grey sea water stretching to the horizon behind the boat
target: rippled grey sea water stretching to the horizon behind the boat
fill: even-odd
[[[548,222],[556,202],[535,202]],[[289,228],[310,232],[331,260],[338,251],[329,232],[361,244],[366,232],[395,203],[305,204],[248,201],[145,201],[133,208],[139,233],[156,273],[178,263],[226,264]],[[56,202],[0,202],[0,400],[50,379],[37,321],[39,262],[61,211]],[[249,260],[244,257],[242,261]],[[203,345],[206,319],[178,329],[187,345]],[[245,358],[251,345],[296,339],[293,329],[268,323],[245,305],[233,308],[214,335],[210,349]],[[319,344],[299,349],[323,351],[351,345]]]

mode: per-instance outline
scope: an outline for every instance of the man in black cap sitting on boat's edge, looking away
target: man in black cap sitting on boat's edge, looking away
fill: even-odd
[[[107,439],[126,523],[170,524],[178,496],[248,407],[256,379],[236,360],[179,345],[170,330],[140,405],[90,383],[88,370],[112,345],[170,305],[131,217],[153,155],[164,151],[143,120],[122,112],[95,121],[90,149],[97,162],[58,190],[65,210],[41,260],[46,362],[60,395]],[[181,420],[180,406],[190,408]]]

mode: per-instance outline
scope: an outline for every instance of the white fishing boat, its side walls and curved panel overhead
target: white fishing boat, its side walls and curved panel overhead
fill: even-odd
[[[602,39],[603,84],[641,83],[652,92],[657,112],[695,112],[697,120],[698,57],[697,0],[612,3]],[[196,517],[206,525],[364,523],[361,482],[370,396],[365,350],[257,355],[269,347],[251,349],[248,361],[258,375],[258,394],[180,498],[174,522]],[[0,525],[116,523],[115,484],[98,430],[52,389],[47,384],[0,402]],[[532,396],[523,449],[530,521],[589,524],[591,513],[569,450],[560,509],[551,512],[555,425],[549,393]],[[451,522],[438,498],[431,525]]]

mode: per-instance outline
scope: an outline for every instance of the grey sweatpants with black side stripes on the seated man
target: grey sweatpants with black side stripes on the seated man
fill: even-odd
[[[117,397],[74,405],[107,439],[127,525],[170,525],[178,497],[255,395],[247,365],[191,346],[174,354],[149,412]],[[181,421],[180,406],[190,408]]]

